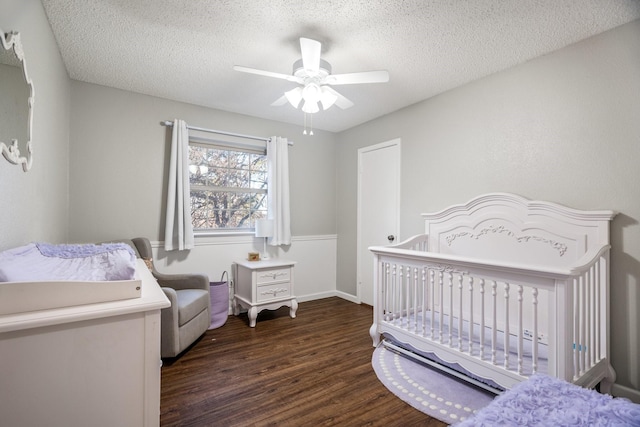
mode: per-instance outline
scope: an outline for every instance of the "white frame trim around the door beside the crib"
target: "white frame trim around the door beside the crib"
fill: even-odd
[[[362,268],[363,260],[361,258],[362,254],[362,156],[370,151],[376,151],[383,148],[388,148],[392,146],[398,147],[398,159],[397,159],[397,176],[396,176],[396,224],[395,224],[395,235],[396,242],[399,242],[400,235],[400,189],[401,189],[401,176],[402,176],[402,145],[400,138],[394,138],[389,141],[381,142],[374,145],[369,145],[367,147],[362,147],[358,149],[358,187],[357,187],[357,214],[356,214],[356,299],[358,300],[358,304],[362,303]],[[369,268],[373,269],[373,265],[370,265]],[[375,300],[375,292],[374,292],[374,300]]]

